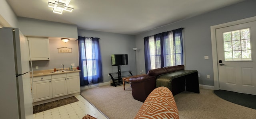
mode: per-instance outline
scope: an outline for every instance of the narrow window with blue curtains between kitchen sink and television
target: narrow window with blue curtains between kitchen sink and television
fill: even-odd
[[[102,82],[102,63],[99,38],[78,36],[80,85]]]

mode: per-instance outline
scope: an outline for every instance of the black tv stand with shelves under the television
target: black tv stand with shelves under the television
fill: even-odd
[[[116,87],[116,86],[120,86],[120,85],[123,85],[123,80],[122,80],[122,78],[123,77],[128,77],[128,76],[133,76],[132,75],[132,70],[127,70],[127,71],[120,71],[120,66],[117,66],[118,67],[118,72],[113,72],[113,73],[109,73],[108,75],[111,77],[111,79],[112,79],[112,83],[110,84],[110,86],[114,86],[114,87]],[[130,73],[130,75],[125,75],[125,76],[122,76],[122,73],[127,73],[127,72],[129,72]],[[117,77],[116,77],[116,74],[117,74]],[[125,84],[128,84],[128,83],[130,83],[130,82],[125,82]]]

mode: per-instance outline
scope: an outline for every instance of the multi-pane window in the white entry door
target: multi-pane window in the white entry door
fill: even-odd
[[[250,29],[223,33],[225,61],[252,60]]]

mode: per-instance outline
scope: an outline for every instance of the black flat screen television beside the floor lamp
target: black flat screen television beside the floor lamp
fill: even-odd
[[[121,54],[121,55],[111,55],[111,62],[112,66],[120,66],[120,65],[127,65],[128,64],[128,55]]]

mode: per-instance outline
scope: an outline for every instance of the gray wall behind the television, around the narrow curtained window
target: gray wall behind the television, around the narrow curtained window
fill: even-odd
[[[111,66],[111,54],[128,54],[128,65],[122,65],[121,71],[135,71],[135,36],[101,31],[78,29],[78,36],[100,38],[100,51],[102,56],[103,82],[110,81],[108,73],[117,72],[117,66]],[[135,73],[135,72],[134,72]]]

